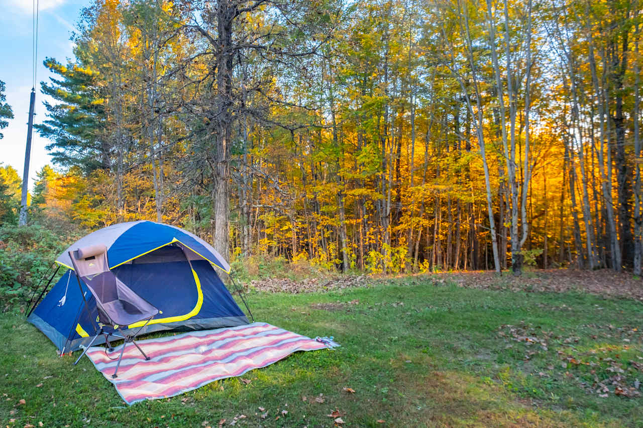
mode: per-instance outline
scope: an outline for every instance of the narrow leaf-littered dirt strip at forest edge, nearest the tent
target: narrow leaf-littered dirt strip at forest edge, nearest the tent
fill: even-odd
[[[306,278],[294,281],[288,278],[268,278],[267,280],[250,281],[251,289],[291,294],[365,287],[366,285],[368,285],[367,277],[364,275],[340,276],[330,280],[328,278]]]

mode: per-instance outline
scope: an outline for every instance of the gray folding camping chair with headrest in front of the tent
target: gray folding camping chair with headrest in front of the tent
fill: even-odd
[[[80,280],[82,279],[96,299],[98,325],[100,326],[100,328],[96,329],[95,337],[91,339],[91,342],[87,345],[80,357],[78,357],[74,365],[80,361],[82,356],[85,355],[89,347],[100,335],[105,335],[105,342],[110,350],[111,344],[109,343],[109,336],[123,339],[123,348],[118,357],[116,370],[114,370],[114,374],[112,375],[113,378],[116,378],[118,366],[120,366],[123,352],[125,352],[125,346],[128,343],[133,343],[143,354],[143,357],[149,360],[150,358],[145,355],[145,352],[143,352],[134,339],[136,339],[136,335],[143,330],[147,323],[159,313],[159,310],[141,298],[141,296],[138,296],[138,294],[133,292],[121,280],[116,278],[114,272],[109,270],[107,247],[105,245],[90,245],[89,247],[79,248],[76,251],[69,251],[69,258],[71,258],[71,263],[76,272],[78,285],[80,286]],[[128,326],[140,321],[146,322],[141,328],[136,330],[134,334],[125,334],[121,329],[122,326]],[[104,331],[105,325],[113,326],[114,330],[118,330],[120,334],[116,334],[115,332],[107,334]]]

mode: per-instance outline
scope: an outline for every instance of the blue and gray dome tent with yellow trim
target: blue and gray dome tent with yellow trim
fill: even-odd
[[[159,309],[141,334],[249,323],[215,272],[218,268],[230,273],[230,265],[212,245],[168,224],[145,220],[119,223],[80,238],[60,254],[56,259],[57,270],[61,267],[68,270],[49,292],[47,284],[33,303],[28,321],[49,337],[61,353],[87,346],[95,333],[96,301],[78,280],[69,259],[69,251],[95,244],[107,247],[109,269],[116,277]],[[51,278],[54,276],[55,273]],[[121,326],[125,331],[139,327]],[[105,332],[110,332],[110,328],[104,326]],[[104,342],[104,337],[95,344],[101,341]]]

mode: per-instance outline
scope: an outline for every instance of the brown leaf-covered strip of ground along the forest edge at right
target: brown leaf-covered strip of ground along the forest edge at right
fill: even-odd
[[[592,294],[620,297],[643,301],[643,280],[635,278],[631,272],[613,272],[609,269],[599,271],[580,271],[577,269],[545,269],[525,272],[521,277],[503,272],[498,277],[490,271],[454,272],[433,274],[440,283],[456,283],[471,289],[565,292],[583,290]],[[557,308],[565,310],[566,308]]]

